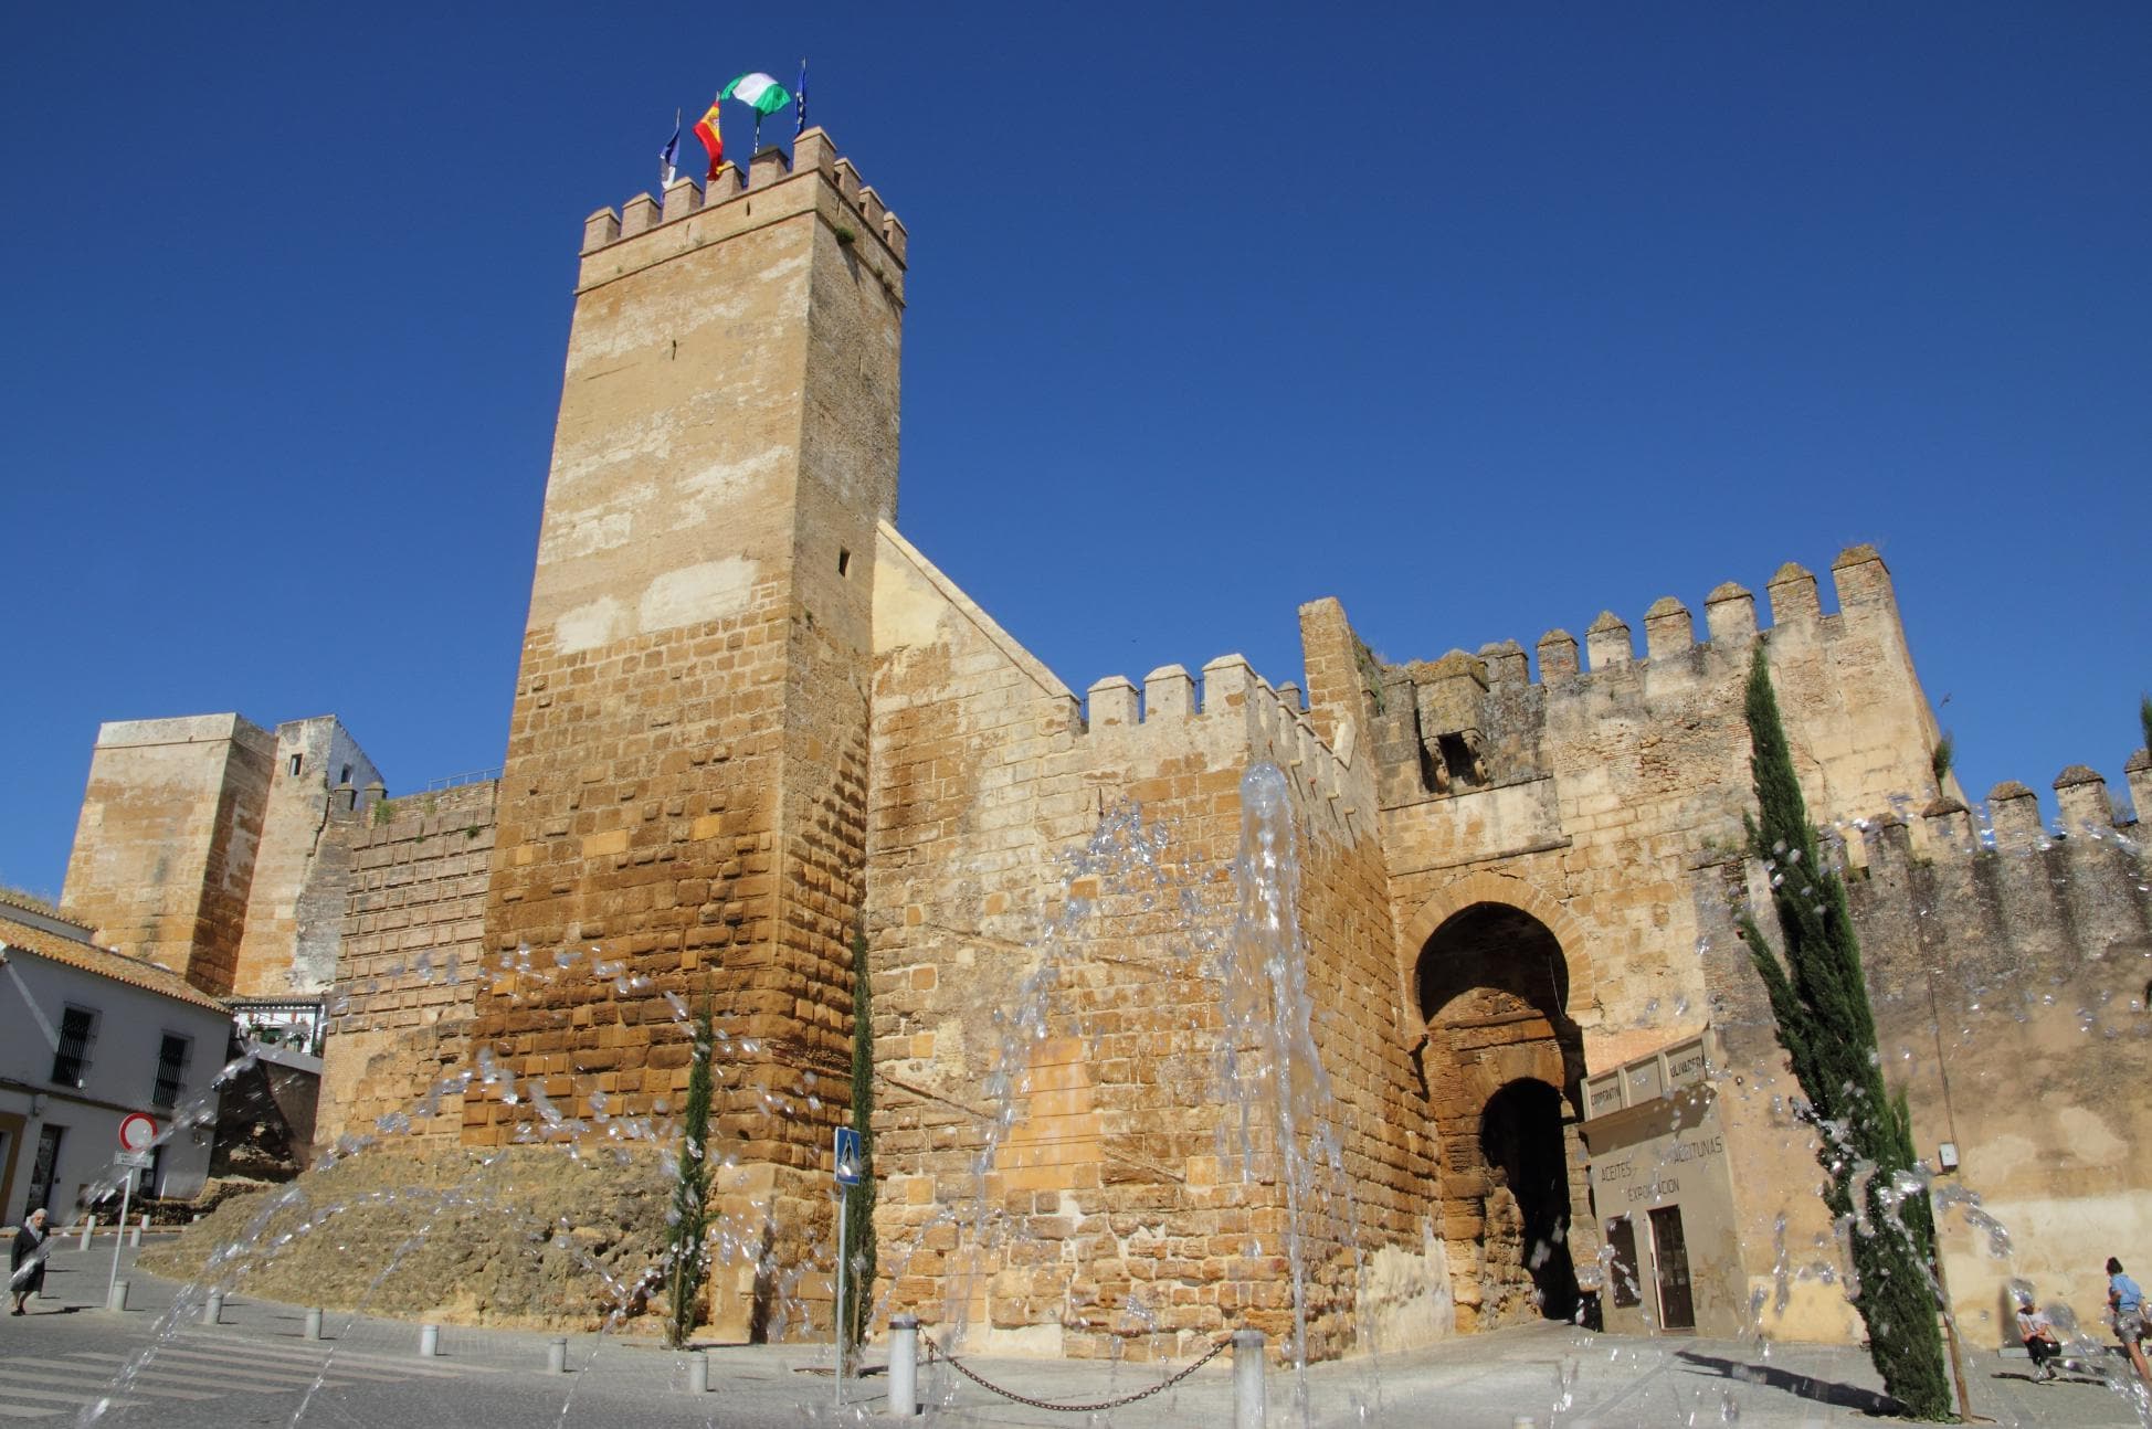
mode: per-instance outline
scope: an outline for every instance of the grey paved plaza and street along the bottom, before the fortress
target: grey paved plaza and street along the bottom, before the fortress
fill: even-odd
[[[407,1321],[325,1317],[303,1339],[297,1306],[235,1296],[222,1321],[172,1315],[179,1285],[131,1274],[129,1308],[110,1313],[112,1244],[73,1240],[52,1259],[32,1315],[0,1317],[0,1423],[90,1423],[211,1429],[228,1425],[869,1425],[889,1423],[884,1375],[841,1388],[829,1349],[708,1349],[710,1392],[689,1392],[689,1360],[639,1334],[570,1334],[568,1373],[549,1373],[555,1336],[441,1328],[441,1354],[420,1358]],[[148,1354],[144,1354],[148,1352]],[[872,1371],[880,1352],[869,1354]],[[928,1418],[943,1425],[1231,1425],[1231,1356],[1181,1384],[1102,1414],[1048,1412],[1001,1399],[947,1367],[923,1369]],[[1171,1367],[1070,1360],[977,1360],[1029,1399],[1089,1403],[1156,1384]],[[2133,1405],[2081,1367],[2036,1384],[2023,1358],[1967,1356],[1973,1410],[2004,1425],[2141,1425]],[[1877,1423],[1877,1377],[1864,1354],[1823,1345],[1584,1334],[1562,1326],[1509,1330],[1433,1349],[1323,1364],[1308,1373],[1306,1416],[1291,1373],[1268,1382],[1272,1425],[1491,1425],[1614,1429],[1629,1425]]]

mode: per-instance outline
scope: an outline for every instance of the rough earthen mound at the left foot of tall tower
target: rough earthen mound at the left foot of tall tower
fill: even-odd
[[[596,1328],[665,1253],[665,1162],[624,1156],[370,1149],[224,1201],[140,1265],[334,1311]]]

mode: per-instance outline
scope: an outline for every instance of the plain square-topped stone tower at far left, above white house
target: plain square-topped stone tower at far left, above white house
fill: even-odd
[[[101,725],[60,904],[99,943],[230,992],[273,751],[237,714]]]

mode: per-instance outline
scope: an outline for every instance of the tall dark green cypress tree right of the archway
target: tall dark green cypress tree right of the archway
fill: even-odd
[[[1821,1136],[1823,1199],[1853,1253],[1853,1308],[1868,1324],[1868,1354],[1883,1388],[1915,1418],[1952,1416],[1937,1332],[1935,1220],[1913,1171],[1913,1115],[1883,1087],[1874,1009],[1846,889],[1823,865],[1762,648],[1747,680],[1750,770],[1756,816],[1750,846],[1771,872],[1784,962],[1752,910],[1739,917],[1756,973],[1771,994],[1778,1042],[1793,1061]]]

